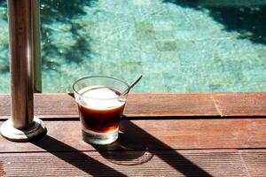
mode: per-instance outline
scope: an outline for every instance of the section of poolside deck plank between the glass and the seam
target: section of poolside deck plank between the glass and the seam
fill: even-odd
[[[125,115],[135,116],[219,116],[208,93],[129,95]]]

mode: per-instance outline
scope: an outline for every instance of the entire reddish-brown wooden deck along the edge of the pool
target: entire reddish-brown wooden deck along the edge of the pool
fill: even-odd
[[[266,93],[130,94],[108,146],[82,141],[71,95],[35,95],[35,115],[48,134],[0,137],[0,176],[266,176]]]

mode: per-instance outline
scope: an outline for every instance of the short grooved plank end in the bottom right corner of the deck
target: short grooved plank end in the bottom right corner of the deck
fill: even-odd
[[[239,150],[249,176],[266,175],[266,150]]]

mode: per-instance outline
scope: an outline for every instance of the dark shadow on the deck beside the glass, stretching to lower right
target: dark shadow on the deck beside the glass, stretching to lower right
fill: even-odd
[[[173,150],[166,143],[160,142],[153,135],[148,134],[140,127],[137,127],[131,121],[121,121],[121,134],[116,142],[106,146],[94,146],[104,158],[115,164],[137,165],[148,162],[153,156],[159,157],[161,160],[171,165],[176,171],[183,173],[184,176],[211,176],[200,166],[195,165],[187,158]],[[132,132],[134,132],[132,134]],[[113,151],[112,151],[113,150]],[[124,150],[125,155],[121,154]],[[129,150],[127,152],[127,150]],[[136,152],[135,154],[132,151]],[[138,151],[137,151],[138,150]],[[161,150],[169,150],[167,158]],[[129,156],[127,156],[127,154]],[[173,159],[175,159],[173,161]]]

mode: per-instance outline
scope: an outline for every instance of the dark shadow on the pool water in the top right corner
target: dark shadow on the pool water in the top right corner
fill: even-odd
[[[235,4],[231,1],[215,2],[200,0],[164,0],[185,8],[198,11],[208,10],[208,15],[223,24],[224,30],[238,32],[239,39],[266,44],[266,3]],[[250,4],[250,5],[247,5]]]

